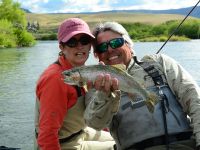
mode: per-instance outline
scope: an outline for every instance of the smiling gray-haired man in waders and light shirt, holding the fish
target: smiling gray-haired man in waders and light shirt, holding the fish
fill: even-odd
[[[101,74],[94,84],[96,96],[85,112],[87,124],[97,130],[109,126],[120,150],[199,148],[200,89],[192,77],[166,55],[147,55],[138,61],[127,31],[116,22],[96,26],[93,34],[94,54],[99,61],[106,65],[124,64],[146,90],[159,96],[159,101],[152,103],[151,113],[140,95],[121,91],[119,100],[116,79]],[[88,85],[91,87],[91,83]],[[108,98],[105,100],[102,95]]]

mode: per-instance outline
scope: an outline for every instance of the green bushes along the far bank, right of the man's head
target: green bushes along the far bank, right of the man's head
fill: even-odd
[[[128,30],[130,37],[135,41],[165,41],[180,24],[180,20],[172,20],[160,25],[142,23],[122,25]],[[200,20],[186,20],[175,32],[171,40],[200,39]]]

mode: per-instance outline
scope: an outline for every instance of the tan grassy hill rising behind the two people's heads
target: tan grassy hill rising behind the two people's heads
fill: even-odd
[[[176,14],[144,14],[144,13],[127,13],[127,12],[107,12],[107,13],[90,13],[90,14],[35,14],[26,13],[27,20],[32,23],[37,21],[40,28],[47,30],[57,30],[60,23],[67,18],[82,18],[89,23],[90,27],[105,21],[117,21],[120,23],[144,23],[158,25],[166,21],[182,20],[184,16]],[[188,19],[194,19],[189,17]],[[187,19],[187,20],[188,20]]]

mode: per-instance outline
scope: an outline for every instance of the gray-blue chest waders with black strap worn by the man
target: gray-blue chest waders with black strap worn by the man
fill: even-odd
[[[113,117],[110,130],[113,138],[117,143],[118,149],[126,149],[138,142],[153,137],[165,135],[165,124],[162,115],[162,97],[164,100],[165,117],[169,135],[191,131],[189,120],[183,112],[179,102],[169,86],[164,83],[163,75],[152,66],[143,65],[146,75],[142,78],[150,77],[158,85],[147,88],[149,92],[154,92],[160,97],[160,101],[155,105],[155,110],[150,113],[141,96],[137,96],[135,101],[122,93],[120,108],[118,113]],[[149,71],[148,69],[151,68]],[[143,70],[143,71],[144,71]],[[143,73],[144,74],[144,73]]]

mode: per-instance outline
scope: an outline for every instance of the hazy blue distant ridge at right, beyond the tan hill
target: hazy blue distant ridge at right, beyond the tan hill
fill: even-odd
[[[145,14],[179,14],[186,16],[193,7],[180,8],[180,9],[167,9],[167,10],[111,10],[111,11],[103,11],[103,12],[126,12],[126,13],[145,13]],[[99,12],[97,12],[99,13]],[[200,18],[200,6],[197,6],[193,12],[190,14],[192,17]]]

